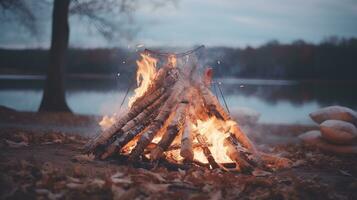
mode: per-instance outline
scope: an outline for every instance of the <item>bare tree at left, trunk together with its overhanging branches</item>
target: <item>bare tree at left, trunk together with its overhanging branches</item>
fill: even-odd
[[[47,0],[42,0],[50,4]],[[38,3],[39,1],[34,1]],[[154,8],[164,5],[163,0],[151,0]],[[173,0],[173,2],[175,2]],[[19,16],[20,22],[32,34],[36,34],[36,17],[25,0],[0,0],[0,8],[12,11]],[[147,1],[145,3],[148,3]],[[134,32],[123,32],[123,27],[111,22],[106,17],[111,14],[120,14],[131,22],[131,14],[139,5],[139,0],[54,0],[52,13],[51,48],[49,52],[49,66],[45,82],[43,98],[39,111],[70,112],[65,98],[64,74],[65,60],[68,49],[70,14],[79,15],[88,19],[105,38],[112,39],[115,34],[130,38]],[[124,34],[126,33],[126,34]]]

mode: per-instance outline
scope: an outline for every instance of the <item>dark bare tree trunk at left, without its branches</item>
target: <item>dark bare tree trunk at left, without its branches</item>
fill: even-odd
[[[71,111],[66,103],[64,89],[64,65],[69,39],[69,3],[70,0],[54,1],[50,62],[40,111]]]

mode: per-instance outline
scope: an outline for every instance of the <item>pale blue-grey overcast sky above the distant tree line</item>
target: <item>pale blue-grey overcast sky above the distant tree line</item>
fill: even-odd
[[[245,47],[272,39],[283,43],[296,39],[318,43],[332,35],[357,37],[357,1],[178,0],[177,5],[159,9],[143,4],[135,14],[135,21],[140,31],[130,45]],[[1,22],[0,46],[48,47],[49,20],[40,23],[44,27],[41,35],[29,37],[23,27]],[[125,44],[108,42],[97,32],[88,31],[87,24],[76,18],[71,18],[70,23],[71,46]]]

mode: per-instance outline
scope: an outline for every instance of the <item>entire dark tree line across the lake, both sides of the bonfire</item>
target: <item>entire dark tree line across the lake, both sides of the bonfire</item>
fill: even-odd
[[[45,74],[47,50],[0,49],[0,73]],[[266,79],[356,80],[357,39],[331,37],[320,44],[270,41],[257,48],[207,48],[215,76]],[[69,74],[133,73],[137,54],[126,49],[70,49]]]

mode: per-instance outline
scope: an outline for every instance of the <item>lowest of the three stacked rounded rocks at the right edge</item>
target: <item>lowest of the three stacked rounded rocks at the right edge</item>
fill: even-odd
[[[357,145],[330,144],[321,137],[320,131],[308,131],[299,136],[308,145],[317,147],[323,151],[336,154],[357,154]]]

